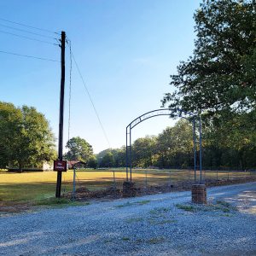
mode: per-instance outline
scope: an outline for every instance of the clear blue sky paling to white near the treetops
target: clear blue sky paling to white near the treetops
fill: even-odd
[[[125,145],[125,127],[137,116],[160,108],[172,90],[170,74],[194,49],[193,14],[197,0],[2,0],[0,19],[54,32],[67,32],[73,54],[102,120],[112,148]],[[49,36],[43,38],[6,27]],[[12,32],[57,43],[58,34],[30,30],[0,20],[0,51],[60,60],[61,50],[15,37]],[[66,55],[64,146],[67,143],[69,52]],[[58,135],[61,68],[59,62],[40,61],[0,52],[0,101],[33,106],[44,113]],[[168,117],[148,119],[134,128],[133,139],[157,135],[174,122]],[[70,136],[83,137],[94,152],[108,148],[90,99],[73,63]]]

